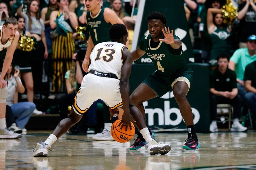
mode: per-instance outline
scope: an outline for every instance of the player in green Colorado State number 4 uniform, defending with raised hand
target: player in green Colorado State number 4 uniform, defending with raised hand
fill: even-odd
[[[132,92],[130,98],[145,118],[142,103],[155,97],[160,98],[173,89],[174,98],[188,128],[188,139],[183,149],[198,149],[200,143],[196,136],[191,106],[186,99],[192,82],[192,71],[184,58],[180,38],[173,35],[173,30],[170,32],[170,28],[165,27],[166,18],[161,12],[150,13],[147,19],[150,34],[141,39],[139,47],[132,52],[132,56],[135,61],[146,53],[157,71],[148,76]],[[145,144],[140,136],[139,134],[135,143],[130,147],[131,150],[138,149]]]

